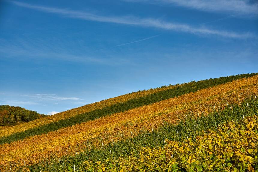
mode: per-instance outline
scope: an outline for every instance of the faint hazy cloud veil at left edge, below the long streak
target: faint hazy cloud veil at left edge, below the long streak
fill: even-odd
[[[25,60],[25,58],[33,60],[44,58],[51,60],[55,59],[69,62],[79,62],[86,64],[93,63],[109,66],[132,64],[130,60],[121,57],[103,57],[98,55],[96,56],[95,54],[85,55],[84,49],[79,48],[79,51],[80,53],[74,54],[73,51],[67,50],[67,48],[63,47],[62,45],[56,47],[56,44],[52,44],[51,42],[46,43],[42,39],[35,41],[35,39],[31,38],[19,38],[15,40],[15,42],[4,39],[0,40],[0,54],[2,55],[2,58],[22,57],[20,60]]]

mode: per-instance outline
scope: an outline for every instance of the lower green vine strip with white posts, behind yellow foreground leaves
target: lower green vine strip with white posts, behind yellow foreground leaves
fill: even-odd
[[[248,108],[247,108],[248,102]],[[178,125],[162,126],[158,130],[152,132],[143,132],[138,136],[127,140],[117,141],[104,146],[102,149],[91,148],[85,150],[78,155],[64,156],[61,161],[57,163],[56,160],[50,159],[43,161],[43,164],[35,164],[30,166],[31,171],[68,171],[73,165],[78,169],[81,164],[87,161],[102,161],[110,158],[117,159],[120,156],[136,156],[139,157],[139,152],[142,147],[164,147],[164,139],[184,141],[187,137],[191,137],[194,141],[196,136],[202,135],[202,131],[217,130],[220,125],[223,125],[229,121],[241,122],[243,115],[251,116],[258,113],[258,99],[247,99],[241,106],[230,105],[226,109],[220,112],[210,113],[208,116],[201,116],[199,118],[191,117],[192,114],[188,114],[188,118],[183,122],[181,121]],[[178,131],[178,134],[177,132]],[[144,136],[146,140],[144,139]],[[110,154],[111,150],[111,154]]]

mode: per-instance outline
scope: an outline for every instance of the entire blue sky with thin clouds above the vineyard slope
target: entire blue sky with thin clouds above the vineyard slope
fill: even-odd
[[[47,114],[258,72],[257,38],[257,1],[3,0],[0,104]]]

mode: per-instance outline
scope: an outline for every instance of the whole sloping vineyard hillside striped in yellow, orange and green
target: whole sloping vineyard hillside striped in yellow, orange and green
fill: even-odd
[[[1,171],[258,170],[258,74],[133,92],[0,130]]]

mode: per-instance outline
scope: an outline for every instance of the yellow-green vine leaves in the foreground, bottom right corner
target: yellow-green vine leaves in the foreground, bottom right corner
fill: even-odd
[[[84,161],[80,171],[257,171],[257,116],[229,122],[184,142],[143,147],[138,156]]]

